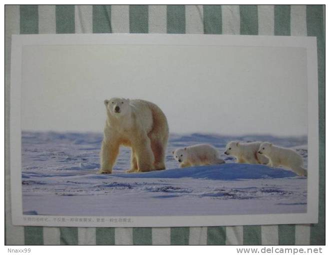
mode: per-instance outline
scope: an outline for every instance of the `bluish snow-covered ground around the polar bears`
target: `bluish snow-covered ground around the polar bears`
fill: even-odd
[[[24,214],[80,216],[224,215],[305,212],[307,179],[265,165],[226,163],[178,169],[171,151],[230,140],[270,141],[296,149],[307,167],[307,137],[171,134],[167,170],[124,173],[120,149],[112,174],[96,174],[102,134],[22,132]]]

